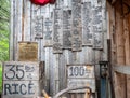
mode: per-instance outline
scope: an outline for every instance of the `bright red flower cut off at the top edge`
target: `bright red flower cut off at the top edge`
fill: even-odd
[[[38,5],[46,5],[48,3],[54,4],[56,0],[30,0],[30,1]]]

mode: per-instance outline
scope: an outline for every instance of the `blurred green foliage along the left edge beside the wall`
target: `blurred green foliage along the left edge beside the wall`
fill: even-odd
[[[1,62],[9,60],[10,0],[0,0],[0,93],[2,90]]]

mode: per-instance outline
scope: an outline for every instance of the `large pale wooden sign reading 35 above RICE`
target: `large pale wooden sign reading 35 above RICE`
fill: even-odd
[[[3,67],[3,98],[34,98],[39,95],[38,62],[9,61]]]

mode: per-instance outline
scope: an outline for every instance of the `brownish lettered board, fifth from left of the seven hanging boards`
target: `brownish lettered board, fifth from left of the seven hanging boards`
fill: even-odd
[[[81,0],[72,0],[72,45],[73,51],[81,51],[82,27],[81,27]]]

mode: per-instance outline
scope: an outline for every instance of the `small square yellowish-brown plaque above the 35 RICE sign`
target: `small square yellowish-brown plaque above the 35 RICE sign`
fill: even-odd
[[[37,42],[18,42],[20,61],[38,61]]]

